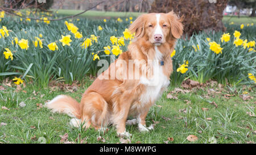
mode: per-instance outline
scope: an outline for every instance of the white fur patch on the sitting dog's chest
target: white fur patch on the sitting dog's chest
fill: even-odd
[[[145,92],[141,95],[140,102],[141,104],[148,104],[149,102],[155,103],[162,94],[163,90],[168,87],[170,81],[168,77],[163,73],[163,66],[160,65],[160,61],[162,60],[162,53],[155,46],[155,60],[153,60],[153,70],[154,76],[148,79],[146,77],[142,77],[140,79],[140,83],[146,87]]]

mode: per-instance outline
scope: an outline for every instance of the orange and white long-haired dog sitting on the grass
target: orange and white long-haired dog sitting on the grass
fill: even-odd
[[[138,16],[129,27],[135,35],[127,51],[96,78],[82,95],[80,103],[59,95],[46,107],[73,117],[70,124],[75,127],[83,124],[85,128],[102,129],[113,124],[118,136],[129,137],[131,134],[126,131],[126,125],[138,123],[139,131],[150,131],[152,128],[146,127],[145,119],[150,107],[170,85],[170,55],[176,40],[183,35],[181,22],[173,11]],[[118,61],[122,63],[117,65]],[[110,78],[112,74],[118,78]],[[135,74],[139,78],[134,78]],[[127,120],[128,116],[136,118]]]

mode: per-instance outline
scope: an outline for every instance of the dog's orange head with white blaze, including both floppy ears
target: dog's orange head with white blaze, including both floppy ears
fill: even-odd
[[[139,16],[129,30],[131,33],[135,32],[137,39],[146,37],[150,43],[161,45],[169,39],[180,38],[183,34],[183,24],[173,11],[168,14],[151,13]]]

